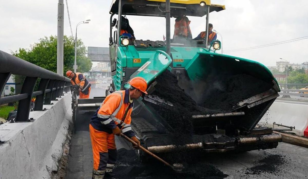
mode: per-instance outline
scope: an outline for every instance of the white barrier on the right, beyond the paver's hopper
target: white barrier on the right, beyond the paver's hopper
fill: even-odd
[[[286,126],[295,126],[293,131],[285,132],[308,137],[308,103],[276,99],[260,120],[260,124],[266,123],[269,127],[273,127],[273,122]],[[274,125],[274,128],[287,129],[277,125]]]

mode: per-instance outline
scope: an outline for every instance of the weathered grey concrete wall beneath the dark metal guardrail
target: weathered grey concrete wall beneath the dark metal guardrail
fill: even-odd
[[[44,105],[46,111],[30,112],[33,122],[0,125],[1,179],[47,179],[58,171],[72,120],[71,94],[57,99]]]

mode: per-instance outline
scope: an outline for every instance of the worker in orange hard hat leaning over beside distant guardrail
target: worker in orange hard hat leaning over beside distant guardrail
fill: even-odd
[[[66,72],[67,78],[71,78],[72,85],[79,86],[79,98],[88,99],[90,97],[91,84],[82,73],[74,73],[71,70]]]

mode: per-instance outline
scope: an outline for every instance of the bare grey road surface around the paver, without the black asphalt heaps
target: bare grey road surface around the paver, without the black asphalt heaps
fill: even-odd
[[[92,88],[90,97],[105,96],[104,86]],[[91,178],[93,156],[89,136],[89,121],[93,112],[79,114],[76,120],[76,133],[71,138],[71,148],[67,166],[67,179]],[[122,139],[116,138],[117,149],[129,149]],[[257,161],[266,156],[279,154],[284,158],[284,165],[277,172],[246,174],[247,168],[257,165]],[[254,150],[243,153],[210,154],[207,161],[229,175],[227,178],[308,178],[308,149],[285,142],[280,142],[276,149]]]

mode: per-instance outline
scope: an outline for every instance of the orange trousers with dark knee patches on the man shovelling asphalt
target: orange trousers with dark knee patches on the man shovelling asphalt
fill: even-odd
[[[96,130],[91,124],[89,129],[93,151],[92,178],[103,178],[104,175],[113,177],[112,169],[116,161],[115,136]]]

